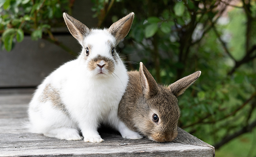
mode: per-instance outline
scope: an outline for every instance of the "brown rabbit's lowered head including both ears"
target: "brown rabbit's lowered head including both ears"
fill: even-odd
[[[138,110],[132,117],[139,132],[157,142],[172,141],[178,135],[180,117],[177,97],[195,82],[201,71],[184,77],[168,87],[158,85],[142,62],[139,82],[143,97],[137,101]]]

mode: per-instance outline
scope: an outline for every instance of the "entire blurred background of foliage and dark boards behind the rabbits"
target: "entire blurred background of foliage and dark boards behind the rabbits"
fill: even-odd
[[[35,88],[79,54],[63,12],[89,28],[134,12],[128,70],[142,61],[165,85],[202,71],[178,125],[218,157],[256,157],[256,0],[0,0],[0,88]]]

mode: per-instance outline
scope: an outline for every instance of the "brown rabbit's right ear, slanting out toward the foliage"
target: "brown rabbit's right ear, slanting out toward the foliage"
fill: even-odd
[[[177,80],[173,84],[170,84],[168,88],[173,92],[173,94],[178,97],[184,93],[184,91],[193,84],[198,77],[201,75],[201,71],[197,71],[191,75],[183,77],[182,79]]]

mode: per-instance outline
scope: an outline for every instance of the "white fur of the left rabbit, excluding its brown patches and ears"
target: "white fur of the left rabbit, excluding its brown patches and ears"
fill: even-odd
[[[28,109],[31,132],[59,139],[81,140],[81,131],[85,142],[102,142],[97,128],[104,123],[119,130],[123,137],[131,133],[126,131],[128,128],[120,126],[123,123],[117,117],[118,104],[128,83],[127,71],[121,59],[117,58],[112,75],[104,69],[102,71],[107,74],[99,74],[98,69],[90,71],[87,66],[97,55],[113,59],[113,47],[109,46],[108,40],[116,45],[115,38],[106,29],[92,30],[91,35],[83,40],[80,56],[60,66],[39,85]],[[93,48],[85,60],[88,44]],[[47,84],[59,91],[68,114],[55,108],[50,100],[41,100]]]

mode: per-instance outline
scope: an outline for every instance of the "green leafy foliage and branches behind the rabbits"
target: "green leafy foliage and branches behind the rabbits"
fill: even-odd
[[[130,70],[138,69],[133,63],[142,61],[161,84],[202,71],[179,97],[181,128],[218,149],[256,126],[255,0],[92,2],[98,27],[135,13],[130,33],[119,44]],[[62,12],[71,13],[73,3],[0,0],[1,47],[10,51],[26,33],[32,40],[44,38],[72,53],[50,28],[63,24]]]

